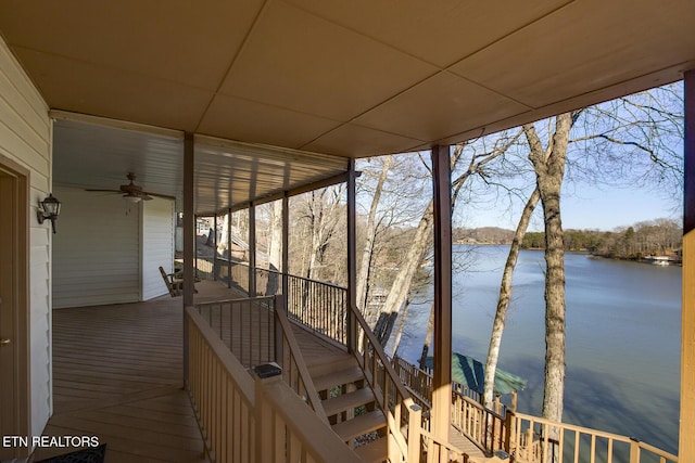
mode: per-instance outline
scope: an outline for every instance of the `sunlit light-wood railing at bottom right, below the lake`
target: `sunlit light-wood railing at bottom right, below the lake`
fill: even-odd
[[[538,416],[514,413],[510,427],[510,453],[520,463],[678,463],[678,456],[636,439]]]

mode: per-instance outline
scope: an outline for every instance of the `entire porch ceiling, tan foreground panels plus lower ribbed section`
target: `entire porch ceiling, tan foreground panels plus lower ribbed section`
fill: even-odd
[[[0,2],[51,110],[166,129],[59,120],[53,180],[178,196],[187,131],[199,213],[678,80],[694,21],[691,0]]]

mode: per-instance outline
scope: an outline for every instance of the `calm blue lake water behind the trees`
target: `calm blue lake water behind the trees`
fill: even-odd
[[[454,246],[453,348],[484,363],[508,246]],[[519,411],[540,415],[544,299],[541,250],[522,250],[498,366],[528,380]],[[678,453],[681,268],[567,253],[564,421]],[[399,355],[419,358],[431,288],[413,305]],[[431,351],[430,351],[431,355]]]

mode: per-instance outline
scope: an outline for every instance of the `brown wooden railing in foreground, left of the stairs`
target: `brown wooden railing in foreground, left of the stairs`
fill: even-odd
[[[192,307],[185,323],[186,388],[211,461],[359,461],[283,381],[254,381]]]

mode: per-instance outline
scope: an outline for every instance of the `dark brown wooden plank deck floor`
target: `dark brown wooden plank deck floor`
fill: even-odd
[[[197,301],[244,297],[223,284],[195,284]],[[182,390],[181,297],[53,311],[53,415],[47,436],[97,436],[106,463],[205,462]],[[308,360],[328,343],[296,329]],[[74,451],[40,448],[33,461]]]

